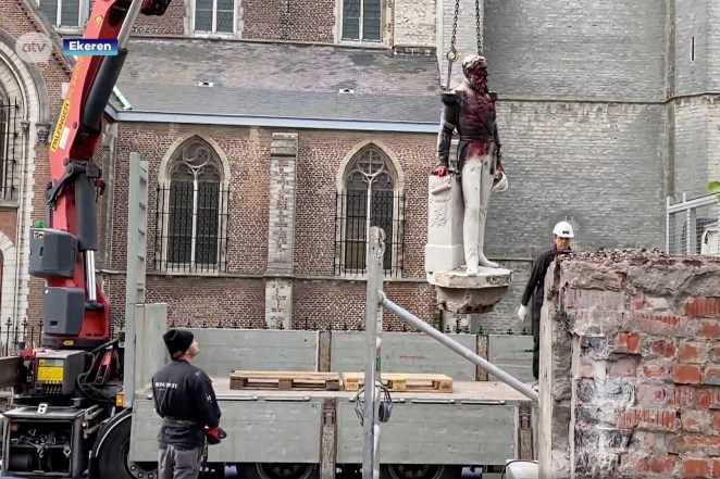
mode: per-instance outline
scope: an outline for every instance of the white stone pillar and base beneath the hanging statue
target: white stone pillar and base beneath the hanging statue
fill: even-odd
[[[431,175],[427,182],[427,244],[425,274],[435,286],[437,300],[457,314],[487,313],[507,293],[512,272],[480,267],[468,275],[462,241],[462,188],[460,178]]]

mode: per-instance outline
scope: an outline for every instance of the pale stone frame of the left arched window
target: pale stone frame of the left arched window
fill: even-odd
[[[182,152],[185,148],[199,143],[204,147],[210,155],[210,161],[214,163],[214,166],[220,176],[220,201],[219,201],[219,219],[218,219],[218,253],[214,264],[203,264],[201,266],[196,266],[193,260],[189,263],[170,263],[167,257],[169,251],[169,225],[170,220],[167,219],[170,212],[170,199],[169,194],[171,184],[172,184],[172,171],[182,160]],[[160,163],[160,168],[158,171],[158,190],[156,198],[157,201],[157,218],[164,218],[160,225],[156,223],[156,257],[154,257],[154,270],[163,274],[170,275],[191,275],[191,276],[218,276],[227,272],[227,230],[228,230],[228,205],[232,201],[229,193],[229,163],[224,151],[220,146],[212,140],[212,138],[199,134],[193,133],[187,134],[178,138],[165,153],[164,157]],[[194,194],[197,199],[197,186],[194,187]],[[194,203],[196,201],[194,200]],[[196,214],[195,209],[197,204],[194,204],[194,215]],[[157,220],[158,222],[158,220]],[[194,222],[194,225],[196,223]],[[196,242],[195,234],[191,234],[193,250],[195,250]],[[159,248],[158,248],[159,247]],[[158,257],[158,249],[160,250],[160,255]]]

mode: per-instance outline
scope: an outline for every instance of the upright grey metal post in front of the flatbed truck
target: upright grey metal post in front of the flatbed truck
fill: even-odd
[[[382,261],[385,253],[385,232],[376,226],[370,228],[368,241],[368,297],[365,303],[365,379],[363,429],[365,441],[362,448],[362,479],[380,479],[380,456],[377,440],[377,388],[380,379],[380,345],[383,331],[383,310],[380,294],[383,288]]]

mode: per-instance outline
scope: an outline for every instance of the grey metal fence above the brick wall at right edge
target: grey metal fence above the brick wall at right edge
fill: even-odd
[[[707,194],[667,201],[666,250],[670,254],[720,255],[720,200]]]

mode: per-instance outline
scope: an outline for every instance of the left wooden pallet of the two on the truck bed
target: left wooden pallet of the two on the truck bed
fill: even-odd
[[[339,373],[234,370],[229,389],[340,390]]]

